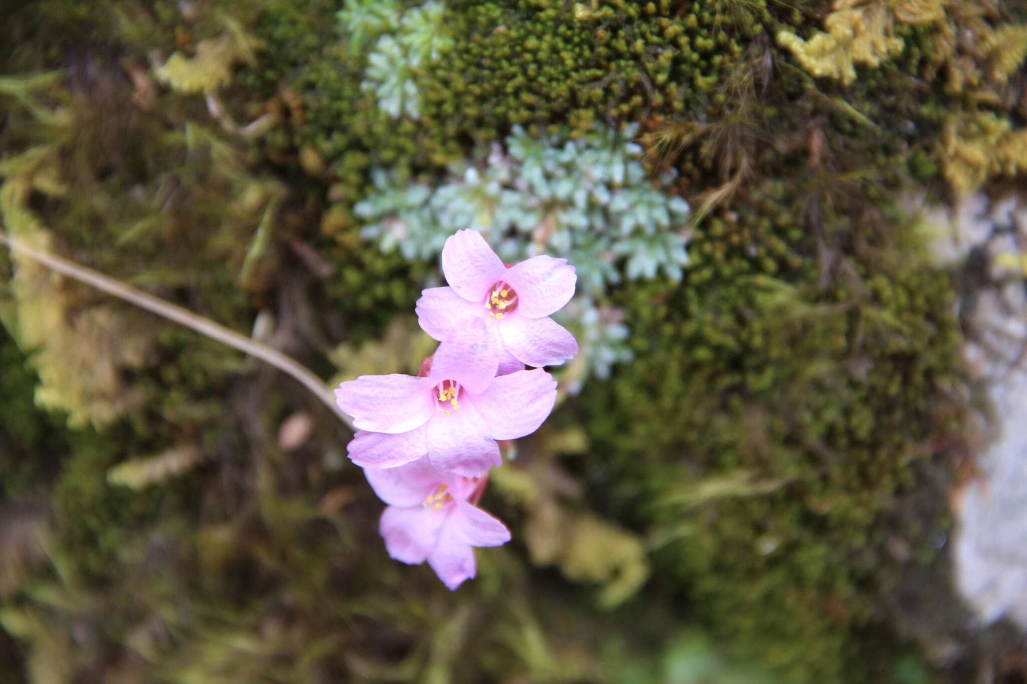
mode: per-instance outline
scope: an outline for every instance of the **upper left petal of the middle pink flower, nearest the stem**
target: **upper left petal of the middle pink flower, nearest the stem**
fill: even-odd
[[[435,410],[431,383],[413,375],[360,375],[335,391],[335,403],[357,430],[397,434],[422,426]]]

